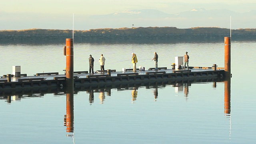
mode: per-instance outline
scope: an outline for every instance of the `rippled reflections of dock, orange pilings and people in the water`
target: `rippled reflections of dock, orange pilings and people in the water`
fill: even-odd
[[[205,81],[210,82],[210,81]],[[213,81],[212,88],[216,88],[216,83],[223,83],[223,81]],[[88,103],[90,105],[94,104],[95,97],[94,95],[98,95],[100,100],[100,104],[104,104],[107,96],[111,96],[111,90],[116,89],[118,91],[130,91],[131,93],[131,101],[135,103],[143,93],[140,93],[141,88],[150,89],[152,92],[152,98],[154,101],[157,102],[158,98],[161,95],[158,93],[159,89],[165,88],[166,86],[171,86],[174,88],[175,93],[184,93],[185,100],[188,101],[189,96],[189,88],[193,87],[193,83],[201,83],[201,82],[154,82],[154,83],[146,83],[146,84],[128,84],[126,86],[120,86],[116,88],[106,87],[103,86],[102,88],[91,88],[91,89],[84,89],[83,87],[75,88],[74,90],[66,90],[66,91],[58,91],[54,92],[54,95],[64,95],[66,94],[66,114],[64,115],[64,126],[66,126],[66,136],[70,136],[74,140],[74,93],[78,93],[80,91],[85,91],[88,94]],[[204,81],[202,81],[204,83]],[[230,120],[230,138],[231,138],[231,104],[230,104],[230,80],[224,81],[224,114],[226,118]],[[26,97],[43,97],[44,92],[37,93],[37,94],[15,94],[13,96],[0,96],[1,99],[5,99],[8,104],[11,104],[14,100],[22,100],[22,98]],[[149,97],[150,98],[150,97]]]

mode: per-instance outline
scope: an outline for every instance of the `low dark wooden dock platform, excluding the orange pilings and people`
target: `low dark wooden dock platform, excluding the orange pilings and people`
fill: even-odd
[[[89,88],[92,86],[102,85],[120,85],[126,83],[141,83],[141,82],[160,82],[160,81],[175,81],[175,80],[195,80],[195,79],[212,79],[221,78],[224,76],[222,69],[203,69],[192,67],[189,70],[173,70],[173,69],[160,69],[160,70],[145,70],[136,72],[116,72],[111,70],[108,72],[88,74],[86,71],[74,72],[74,85]],[[38,73],[34,76],[26,76],[21,74],[21,77],[11,77],[8,82],[6,75],[0,78],[0,95],[5,92],[14,92],[25,89],[35,88],[62,88],[66,84],[66,75],[58,74],[56,72]]]

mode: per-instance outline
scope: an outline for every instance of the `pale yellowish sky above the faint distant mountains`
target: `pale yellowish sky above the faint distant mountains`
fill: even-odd
[[[72,21],[73,14],[74,18],[82,18],[124,10],[155,9],[168,14],[194,8],[240,13],[256,10],[256,0],[1,0],[0,3],[0,30],[72,29],[66,21]],[[93,24],[90,27],[93,28]]]

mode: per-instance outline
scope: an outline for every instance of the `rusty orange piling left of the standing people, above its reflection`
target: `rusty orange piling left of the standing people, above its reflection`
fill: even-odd
[[[67,86],[74,85],[74,49],[72,38],[66,38],[66,81]]]

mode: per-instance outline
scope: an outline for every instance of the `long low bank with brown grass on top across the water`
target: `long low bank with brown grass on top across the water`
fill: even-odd
[[[255,29],[231,30],[232,41],[256,41]],[[0,30],[0,44],[65,43],[72,38],[72,30],[28,29]],[[76,43],[176,43],[220,42],[230,36],[230,29],[197,27],[101,28],[74,30]]]

